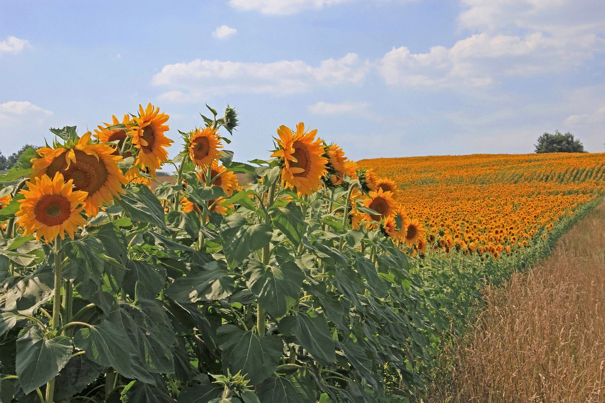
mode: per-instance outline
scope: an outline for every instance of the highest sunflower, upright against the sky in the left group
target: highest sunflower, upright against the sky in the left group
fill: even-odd
[[[168,161],[168,151],[164,147],[174,143],[164,135],[169,130],[164,124],[168,121],[168,115],[160,114],[160,108],[154,109],[149,103],[145,110],[139,105],[139,117],[132,121],[135,125],[128,135],[131,136],[134,147],[139,150],[134,163],[140,164],[143,169],[158,169]]]

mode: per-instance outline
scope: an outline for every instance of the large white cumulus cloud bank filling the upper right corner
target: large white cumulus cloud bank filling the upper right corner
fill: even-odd
[[[605,52],[603,2],[463,0],[462,5],[460,27],[480,32],[427,53],[393,47],[376,63],[388,85],[489,86],[506,76],[571,71]],[[579,13],[576,7],[586,10]]]

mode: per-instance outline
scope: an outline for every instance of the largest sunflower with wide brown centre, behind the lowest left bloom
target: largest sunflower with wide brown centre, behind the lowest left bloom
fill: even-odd
[[[113,155],[114,149],[107,144],[90,144],[91,133],[87,132],[71,148],[38,149],[41,158],[33,158],[33,178],[48,175],[54,178],[59,172],[75,190],[88,193],[84,210],[88,216],[96,216],[102,202],[110,202],[114,196],[126,193],[122,184],[126,178],[117,166],[122,157]]]

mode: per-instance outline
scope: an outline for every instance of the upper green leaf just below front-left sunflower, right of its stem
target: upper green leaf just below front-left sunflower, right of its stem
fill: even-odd
[[[88,234],[82,239],[74,239],[63,245],[65,260],[64,276],[83,280],[82,275],[99,284],[105,268],[105,248],[96,236]]]

